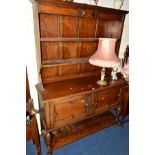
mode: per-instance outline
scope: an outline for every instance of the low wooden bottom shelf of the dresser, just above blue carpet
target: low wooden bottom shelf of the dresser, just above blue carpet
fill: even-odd
[[[65,126],[64,128],[53,131],[52,148],[57,149],[115,123],[113,114],[111,112],[105,112],[76,124]],[[43,136],[45,136],[44,133],[45,131],[43,131]]]

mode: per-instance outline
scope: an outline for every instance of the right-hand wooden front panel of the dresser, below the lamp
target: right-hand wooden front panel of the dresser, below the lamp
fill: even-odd
[[[119,101],[120,89],[100,91],[94,94],[94,112],[103,111],[116,106]]]

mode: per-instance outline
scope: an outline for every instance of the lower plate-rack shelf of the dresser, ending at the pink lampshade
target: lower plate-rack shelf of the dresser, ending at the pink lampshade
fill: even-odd
[[[74,59],[60,59],[60,60],[47,60],[42,62],[42,67],[88,63],[89,58],[74,58]]]

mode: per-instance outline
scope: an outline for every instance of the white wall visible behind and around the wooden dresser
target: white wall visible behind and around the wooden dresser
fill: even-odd
[[[89,0],[74,0],[75,2],[79,3],[87,3],[89,4]],[[128,0],[124,0],[124,4],[121,9],[129,10]],[[27,28],[27,35],[26,35],[26,43],[27,43],[27,53],[26,53],[26,65],[28,69],[28,78],[30,84],[30,93],[31,97],[34,100],[35,108],[38,109],[38,97],[37,91],[35,89],[35,84],[38,82],[37,78],[37,64],[36,64],[36,50],[35,50],[35,40],[34,40],[34,23],[33,23],[33,12],[32,12],[32,4],[27,0],[25,2],[26,5],[26,28]],[[113,8],[113,0],[99,0],[99,6]],[[124,24],[124,31],[122,35],[122,42],[119,52],[119,57],[123,57],[123,53],[125,51],[126,45],[129,43],[129,17],[125,20]],[[39,116],[37,115],[38,122]],[[40,125],[39,125],[40,128]]]

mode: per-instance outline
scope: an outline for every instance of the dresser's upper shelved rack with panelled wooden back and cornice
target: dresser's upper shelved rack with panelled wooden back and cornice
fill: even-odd
[[[117,38],[118,54],[127,11],[56,0],[33,4],[43,85],[99,75],[101,68],[88,62],[98,38]]]

